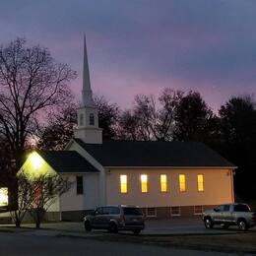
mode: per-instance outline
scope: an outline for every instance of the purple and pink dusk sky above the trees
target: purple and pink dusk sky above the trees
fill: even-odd
[[[86,33],[94,93],[122,108],[138,94],[198,91],[213,109],[256,93],[255,0],[1,0],[0,43],[47,47],[78,72]]]

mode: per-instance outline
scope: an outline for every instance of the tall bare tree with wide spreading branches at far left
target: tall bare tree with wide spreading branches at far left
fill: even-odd
[[[0,134],[7,138],[18,167],[39,118],[70,101],[67,83],[75,77],[76,72],[56,62],[46,48],[27,47],[23,38],[0,46]]]

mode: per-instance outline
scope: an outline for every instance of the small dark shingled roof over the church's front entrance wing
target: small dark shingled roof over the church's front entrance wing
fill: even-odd
[[[43,160],[57,172],[98,172],[98,170],[75,151],[37,151]]]

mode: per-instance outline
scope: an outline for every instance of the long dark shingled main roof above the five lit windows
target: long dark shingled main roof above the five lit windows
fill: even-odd
[[[203,143],[108,141],[86,144],[74,139],[103,166],[235,167]]]

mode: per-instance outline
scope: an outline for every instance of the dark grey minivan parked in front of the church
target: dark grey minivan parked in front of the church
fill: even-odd
[[[84,219],[85,229],[107,229],[109,232],[131,230],[139,234],[144,229],[144,216],[137,206],[105,206],[96,208],[95,212]]]

